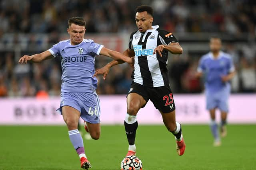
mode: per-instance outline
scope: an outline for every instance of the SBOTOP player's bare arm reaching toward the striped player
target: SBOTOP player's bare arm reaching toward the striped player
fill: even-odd
[[[100,50],[100,55],[111,57],[114,60],[122,60],[122,61],[124,61],[126,63],[129,63],[129,64],[134,63],[134,59],[133,58],[126,57],[122,53],[110,50],[110,49],[108,49],[106,47],[102,47],[102,49]]]

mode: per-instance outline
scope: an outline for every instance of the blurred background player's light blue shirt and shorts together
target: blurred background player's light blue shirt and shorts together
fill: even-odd
[[[219,108],[228,112],[228,96],[230,82],[222,82],[221,77],[234,71],[230,55],[220,52],[214,59],[212,53],[207,53],[200,59],[198,72],[205,73],[206,109]]]

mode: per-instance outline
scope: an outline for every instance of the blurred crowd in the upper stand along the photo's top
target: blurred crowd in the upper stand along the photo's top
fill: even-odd
[[[255,32],[254,0],[1,0],[0,30],[65,32],[68,18],[83,16],[90,33],[130,33],[141,4],[151,5],[155,23],[171,32]]]

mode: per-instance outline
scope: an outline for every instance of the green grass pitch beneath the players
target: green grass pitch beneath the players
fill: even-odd
[[[120,170],[128,143],[123,126],[102,126],[100,140],[84,139],[92,170]],[[256,125],[229,125],[221,147],[212,146],[207,125],[183,125],[186,152],[176,154],[164,126],[137,130],[143,170],[255,170]],[[0,170],[80,170],[64,126],[0,126]]]

